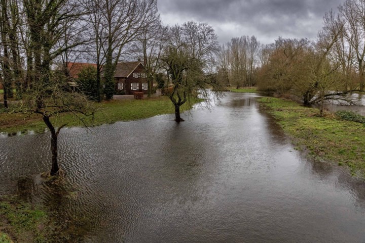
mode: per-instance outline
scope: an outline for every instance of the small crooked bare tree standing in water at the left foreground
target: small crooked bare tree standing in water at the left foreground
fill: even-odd
[[[85,126],[85,116],[93,115],[93,106],[85,95],[72,92],[63,75],[49,72],[47,83],[34,82],[32,88],[23,94],[23,99],[16,104],[14,112],[40,115],[51,132],[52,167],[50,174],[57,175],[59,172],[57,159],[57,138],[62,127],[67,124],[55,126],[52,118],[59,118],[62,114],[72,114]],[[45,77],[44,77],[45,78]],[[62,119],[59,119],[62,120]]]

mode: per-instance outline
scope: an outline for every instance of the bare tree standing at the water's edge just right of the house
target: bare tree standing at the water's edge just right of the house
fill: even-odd
[[[175,108],[175,121],[180,122],[184,121],[180,117],[182,105],[190,103],[198,94],[209,103],[209,88],[220,90],[208,75],[218,42],[211,26],[191,21],[170,27],[167,43],[161,61],[171,82],[166,86]]]

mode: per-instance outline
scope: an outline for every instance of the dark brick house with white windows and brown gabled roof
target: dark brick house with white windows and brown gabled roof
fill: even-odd
[[[148,93],[147,71],[141,62],[118,63],[114,74],[116,90],[125,94]],[[151,84],[153,85],[153,84]]]

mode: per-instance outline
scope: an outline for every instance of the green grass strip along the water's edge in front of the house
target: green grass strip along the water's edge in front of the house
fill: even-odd
[[[194,102],[199,102],[196,100]],[[111,124],[117,121],[131,121],[153,117],[156,115],[174,113],[171,101],[166,96],[150,98],[143,100],[122,100],[103,102],[95,104],[97,112],[94,119],[85,117],[85,122],[89,126],[101,124]],[[191,109],[189,104],[184,104],[182,111]],[[65,114],[59,117],[53,117],[52,122],[56,126],[67,124],[67,126],[83,126],[79,119],[74,116]],[[24,114],[0,114],[0,132],[25,132],[33,130],[35,132],[44,131],[46,125],[39,115],[25,116]]]

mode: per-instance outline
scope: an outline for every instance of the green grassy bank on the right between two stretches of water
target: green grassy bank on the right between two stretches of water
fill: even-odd
[[[348,166],[352,175],[365,177],[365,126],[342,120],[327,113],[319,117],[318,109],[305,108],[291,101],[261,98],[261,104],[274,115],[297,145],[320,161]]]

